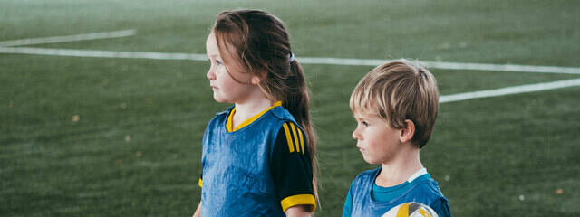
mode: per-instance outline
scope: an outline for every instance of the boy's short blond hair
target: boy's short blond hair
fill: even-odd
[[[359,81],[351,95],[353,113],[376,113],[389,127],[415,125],[411,143],[420,148],[429,141],[439,106],[437,80],[411,61],[386,62]]]

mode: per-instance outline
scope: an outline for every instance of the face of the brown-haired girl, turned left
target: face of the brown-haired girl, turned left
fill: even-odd
[[[209,33],[206,41],[206,52],[211,62],[211,67],[206,75],[209,86],[214,91],[214,99],[222,103],[239,103],[247,98],[247,93],[256,88],[255,79],[248,73],[242,73],[236,60],[224,60],[218,49],[218,42],[215,34]],[[224,63],[224,61],[227,62]],[[229,70],[229,73],[228,73]],[[240,83],[232,78],[247,83]]]

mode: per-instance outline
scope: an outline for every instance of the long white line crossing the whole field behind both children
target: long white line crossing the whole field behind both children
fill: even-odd
[[[183,53],[183,52],[113,52],[113,51],[90,51],[73,49],[50,49],[32,47],[0,47],[0,53],[22,53],[56,56],[75,57],[105,57],[105,58],[140,58],[155,60],[187,60],[187,61],[208,61],[205,54]],[[373,59],[348,59],[348,58],[322,58],[322,57],[300,57],[297,58],[304,64],[333,64],[333,65],[363,65],[378,66],[389,60]],[[530,66],[513,64],[484,64],[484,63],[460,63],[442,61],[420,61],[430,69],[443,70],[477,70],[477,71],[518,71],[518,72],[541,72],[541,73],[564,73],[580,74],[577,67],[556,67],[556,66]]]

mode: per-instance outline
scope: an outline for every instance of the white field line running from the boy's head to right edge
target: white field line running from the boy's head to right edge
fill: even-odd
[[[446,103],[446,102],[462,101],[462,100],[467,100],[467,99],[490,98],[490,97],[498,97],[498,96],[504,96],[504,95],[510,95],[510,94],[535,92],[535,91],[542,91],[542,90],[554,90],[554,89],[561,89],[561,88],[574,87],[574,86],[580,86],[580,79],[558,80],[558,81],[553,81],[553,82],[527,84],[527,85],[513,86],[513,87],[507,87],[507,88],[500,88],[500,89],[495,89],[495,90],[480,90],[480,91],[473,91],[473,92],[464,92],[464,93],[440,96],[439,102]]]

